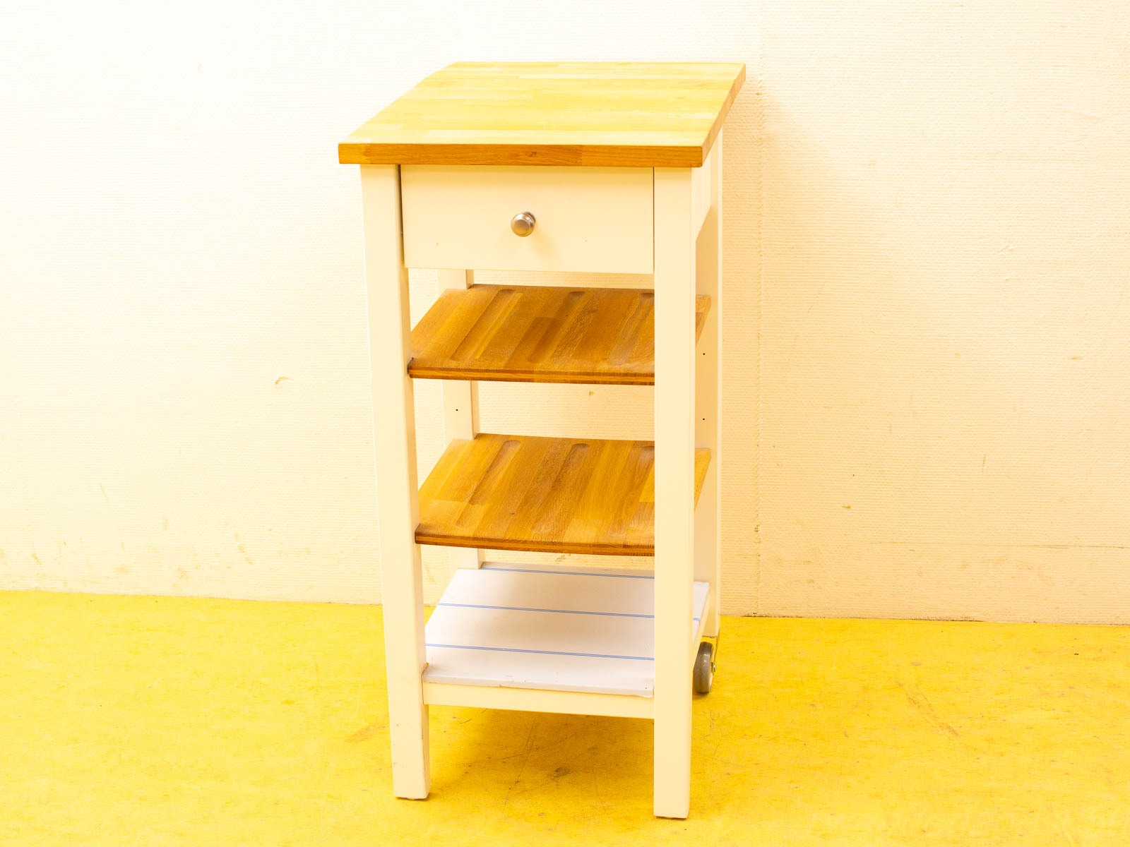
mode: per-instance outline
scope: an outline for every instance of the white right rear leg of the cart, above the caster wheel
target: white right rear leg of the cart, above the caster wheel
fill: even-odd
[[[698,339],[698,363],[695,374],[695,440],[710,449],[710,470],[703,483],[695,510],[695,579],[710,583],[711,601],[706,606],[704,634],[718,636],[722,604],[722,134],[719,132],[711,150],[710,207],[698,235],[696,281],[698,294],[710,297],[702,338]]]

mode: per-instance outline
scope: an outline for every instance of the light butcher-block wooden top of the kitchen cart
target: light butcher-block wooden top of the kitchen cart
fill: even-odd
[[[457,62],[338,147],[342,164],[698,167],[740,63]]]

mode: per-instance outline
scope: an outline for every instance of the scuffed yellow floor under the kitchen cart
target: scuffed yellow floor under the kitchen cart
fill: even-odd
[[[692,818],[651,724],[433,708],[390,793],[381,613],[0,594],[5,845],[1124,845],[1130,628],[727,619]]]

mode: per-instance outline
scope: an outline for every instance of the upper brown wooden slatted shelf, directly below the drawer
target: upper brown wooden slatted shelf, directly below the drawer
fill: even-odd
[[[424,379],[653,385],[654,294],[636,288],[471,286],[443,292],[412,330]],[[695,302],[702,334],[710,297]]]

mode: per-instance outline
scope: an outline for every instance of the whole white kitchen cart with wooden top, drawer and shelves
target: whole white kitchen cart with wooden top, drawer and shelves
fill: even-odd
[[[741,64],[466,63],[339,147],[360,165],[393,791],[428,705],[654,722],[654,810],[689,807],[720,604],[722,123]],[[438,269],[412,329],[407,268]],[[653,288],[475,285],[475,270]],[[442,379],[423,486],[414,379]],[[654,385],[653,442],[480,433],[479,381]],[[696,508],[697,504],[697,508]],[[452,549],[425,626],[419,544]],[[484,562],[654,556],[654,569]]]

